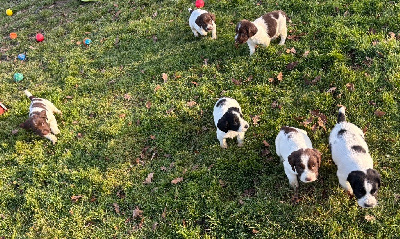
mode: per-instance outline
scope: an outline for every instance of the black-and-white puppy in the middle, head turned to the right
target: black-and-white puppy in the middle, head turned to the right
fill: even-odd
[[[237,136],[238,146],[243,145],[244,133],[249,124],[243,119],[239,103],[228,97],[221,98],[214,106],[214,123],[217,127],[217,139],[222,148],[227,148],[226,138]]]

